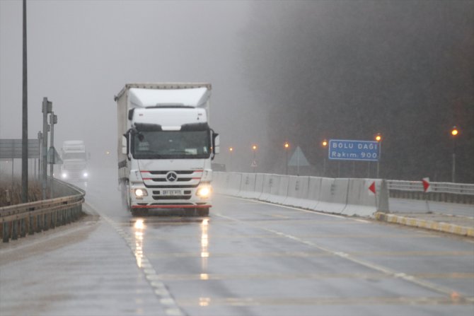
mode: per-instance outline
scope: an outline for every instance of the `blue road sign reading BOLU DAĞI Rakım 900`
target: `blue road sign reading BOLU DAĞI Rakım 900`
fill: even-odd
[[[331,139],[329,141],[329,159],[378,161],[380,147],[378,141]]]

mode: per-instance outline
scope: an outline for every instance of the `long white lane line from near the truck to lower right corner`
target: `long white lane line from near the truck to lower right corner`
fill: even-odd
[[[431,283],[431,282],[428,282],[428,281],[424,281],[424,280],[421,280],[421,279],[417,279],[415,278],[415,276],[410,276],[410,275],[407,275],[407,274],[404,274],[403,272],[398,272],[398,271],[393,271],[392,269],[389,269],[387,267],[383,267],[381,265],[378,265],[378,264],[374,264],[372,262],[368,262],[366,260],[362,260],[362,259],[358,259],[356,257],[353,257],[351,256],[350,254],[347,254],[346,252],[337,252],[337,251],[333,251],[333,250],[330,250],[329,248],[326,248],[326,247],[323,247],[323,246],[320,246],[318,244],[316,244],[315,242],[311,242],[311,241],[308,241],[308,240],[303,240],[301,238],[298,238],[294,235],[289,235],[287,233],[282,233],[278,230],[274,230],[274,229],[270,229],[270,228],[265,228],[265,227],[262,227],[262,226],[258,226],[258,225],[252,225],[248,222],[245,222],[245,221],[241,221],[239,220],[238,218],[233,218],[231,216],[225,216],[221,213],[214,213],[215,216],[219,216],[219,217],[222,217],[222,218],[226,218],[228,220],[231,220],[231,221],[236,221],[236,222],[239,222],[239,223],[243,223],[244,225],[247,225],[247,226],[252,226],[254,228],[260,228],[262,230],[265,230],[265,231],[268,231],[270,233],[274,233],[274,234],[277,234],[277,235],[280,235],[280,236],[283,236],[285,238],[289,238],[291,240],[295,240],[297,242],[301,242],[303,243],[304,245],[308,245],[308,246],[311,246],[311,247],[314,247],[318,250],[321,250],[323,252],[327,252],[329,254],[333,254],[337,257],[340,257],[340,258],[343,258],[343,259],[347,259],[351,262],[354,262],[356,264],[360,264],[364,267],[367,267],[369,269],[373,269],[373,270],[376,270],[376,271],[380,271],[382,272],[383,274],[388,274],[389,276],[393,276],[395,278],[399,278],[399,279],[403,279],[405,281],[408,281],[410,283],[414,283],[416,284],[417,286],[422,286],[424,288],[428,288],[429,290],[432,290],[432,291],[435,291],[435,292],[438,292],[438,293],[441,293],[441,294],[445,294],[445,295],[448,295],[449,297],[451,297],[453,295],[453,293],[456,293],[456,291],[452,290],[451,288],[446,288],[444,286],[438,286],[434,283]],[[474,298],[466,298],[466,300],[469,300],[471,302],[474,302]]]

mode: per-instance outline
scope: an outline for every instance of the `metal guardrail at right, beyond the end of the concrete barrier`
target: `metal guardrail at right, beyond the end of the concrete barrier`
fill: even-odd
[[[387,184],[390,197],[474,204],[474,185],[472,184],[430,182],[429,192],[424,192],[421,181],[387,180]]]

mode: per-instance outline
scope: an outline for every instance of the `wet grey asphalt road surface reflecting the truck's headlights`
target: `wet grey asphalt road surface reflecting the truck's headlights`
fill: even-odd
[[[0,248],[0,315],[474,315],[472,239],[223,196],[133,218],[87,190],[100,218]]]

